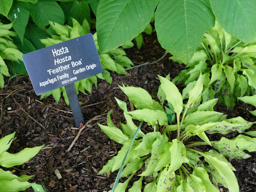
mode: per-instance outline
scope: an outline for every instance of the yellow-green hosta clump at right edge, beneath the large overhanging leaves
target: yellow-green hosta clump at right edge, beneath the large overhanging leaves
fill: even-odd
[[[207,75],[202,93],[204,101],[219,95],[219,101],[228,108],[235,106],[236,98],[255,92],[256,45],[232,37],[218,23],[204,34],[202,43],[188,62],[185,70],[173,79],[193,87],[202,74]],[[171,57],[174,61],[177,58]],[[211,76],[211,78],[210,78]]]

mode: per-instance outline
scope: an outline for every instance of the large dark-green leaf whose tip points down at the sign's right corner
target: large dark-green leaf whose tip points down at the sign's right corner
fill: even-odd
[[[102,0],[97,8],[97,36],[100,52],[130,41],[140,34],[155,11],[158,0]]]

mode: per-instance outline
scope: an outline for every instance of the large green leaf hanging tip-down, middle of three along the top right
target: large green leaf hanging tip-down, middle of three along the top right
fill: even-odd
[[[164,49],[188,63],[204,33],[214,26],[214,15],[206,0],[160,0],[155,27]]]

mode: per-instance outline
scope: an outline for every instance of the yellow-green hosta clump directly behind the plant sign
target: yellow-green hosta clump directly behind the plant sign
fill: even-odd
[[[41,39],[41,42],[45,46],[51,46],[90,33],[89,23],[86,19],[84,19],[82,26],[75,19],[71,19],[73,21],[73,27],[68,25],[62,26],[56,22],[49,21],[51,28],[55,33],[52,35],[52,38]],[[97,50],[99,51],[97,33],[94,33],[93,38]],[[121,48],[116,48],[114,50],[102,53],[100,55],[100,61],[102,64],[103,73],[75,82],[77,94],[79,91],[86,94],[85,90],[91,93],[93,84],[97,86],[97,78],[105,79],[109,84],[111,84],[112,77],[110,76],[109,71],[114,71],[118,74],[126,74],[125,67],[130,68],[131,65],[133,65],[132,61],[126,57],[125,51]],[[69,103],[64,87],[42,94],[41,99],[52,94],[55,101],[58,102],[61,92],[63,92],[63,97],[65,98],[66,103]]]

